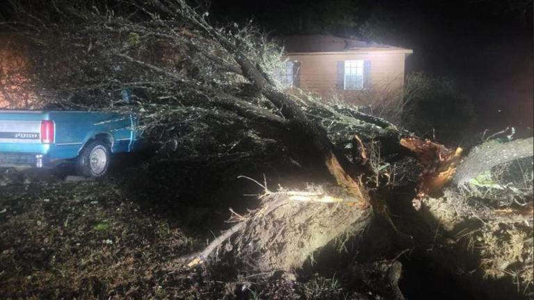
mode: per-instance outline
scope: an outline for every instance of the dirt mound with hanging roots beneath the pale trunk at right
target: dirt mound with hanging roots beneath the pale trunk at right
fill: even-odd
[[[440,250],[430,257],[444,270],[458,274],[475,297],[532,297],[531,213],[492,208],[487,201],[464,197],[451,189],[445,190],[444,197],[426,199],[421,210],[432,215],[435,232],[442,236],[437,239]],[[447,261],[448,265],[444,263]]]

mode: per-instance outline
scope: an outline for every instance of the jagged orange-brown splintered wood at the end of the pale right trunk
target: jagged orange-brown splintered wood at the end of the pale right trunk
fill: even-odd
[[[462,148],[448,149],[442,144],[419,140],[417,138],[402,138],[401,145],[410,149],[423,165],[419,174],[417,197],[421,199],[426,194],[432,195],[442,190],[451,181],[456,168],[461,163]]]

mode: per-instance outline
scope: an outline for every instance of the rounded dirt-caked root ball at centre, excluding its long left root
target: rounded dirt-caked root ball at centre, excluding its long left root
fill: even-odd
[[[305,192],[332,194],[332,190],[325,191],[321,186],[309,187]],[[334,192],[336,197],[340,197],[339,192]],[[371,223],[370,206],[294,201],[283,190],[267,194],[263,201],[263,207],[248,218],[237,238],[238,256],[260,272],[301,267],[307,258],[313,260],[317,249],[332,240],[338,240],[342,248],[344,241],[362,235]],[[261,215],[262,209],[273,205],[280,206]]]

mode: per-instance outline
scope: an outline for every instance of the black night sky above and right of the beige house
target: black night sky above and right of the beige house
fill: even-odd
[[[532,128],[532,1],[228,0],[213,1],[210,12],[221,24],[253,18],[273,36],[332,34],[414,49],[407,74],[452,81],[474,102],[481,130]]]

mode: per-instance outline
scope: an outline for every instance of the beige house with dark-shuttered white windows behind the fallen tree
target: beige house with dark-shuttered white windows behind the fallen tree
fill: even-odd
[[[296,86],[324,100],[355,105],[400,99],[405,58],[413,51],[331,35],[293,35],[283,39],[285,86]]]

